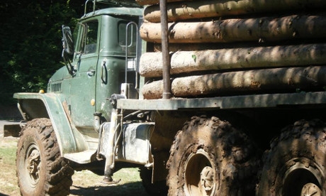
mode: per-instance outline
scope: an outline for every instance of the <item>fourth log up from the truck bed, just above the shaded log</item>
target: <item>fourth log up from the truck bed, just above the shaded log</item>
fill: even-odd
[[[247,13],[278,13],[286,10],[322,9],[326,7],[325,0],[240,0],[240,1],[182,1],[167,4],[169,21],[182,21],[194,18],[212,18],[220,16],[236,16]],[[145,7],[144,19],[159,23],[159,5]]]

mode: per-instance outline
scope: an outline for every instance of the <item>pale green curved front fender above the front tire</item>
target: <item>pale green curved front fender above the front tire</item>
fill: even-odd
[[[27,121],[37,118],[49,118],[60,146],[60,153],[77,153],[87,150],[83,136],[69,121],[69,114],[64,111],[64,97],[55,93],[15,93],[18,109]],[[67,108],[67,107],[66,107]],[[66,109],[67,110],[67,109]]]

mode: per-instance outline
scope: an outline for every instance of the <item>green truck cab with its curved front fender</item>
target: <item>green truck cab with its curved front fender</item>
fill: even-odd
[[[67,65],[71,67],[62,67],[52,75],[45,94],[14,95],[24,119],[46,117],[54,121],[58,126],[56,134],[63,140],[62,154],[96,149],[99,137],[94,129],[94,114],[110,121],[113,106],[108,99],[111,94],[120,94],[125,73],[135,84],[137,23],[141,15],[139,7],[112,7],[85,14],[75,29],[72,62]],[[67,31],[67,27],[63,28]],[[137,98],[136,90],[133,96]]]

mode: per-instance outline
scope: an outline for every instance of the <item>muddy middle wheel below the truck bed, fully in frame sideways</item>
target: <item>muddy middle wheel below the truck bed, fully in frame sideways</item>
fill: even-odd
[[[169,195],[254,195],[257,148],[227,121],[193,117],[176,134],[167,168]]]

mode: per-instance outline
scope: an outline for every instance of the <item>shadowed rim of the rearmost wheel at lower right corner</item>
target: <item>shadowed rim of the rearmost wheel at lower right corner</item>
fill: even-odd
[[[296,163],[286,170],[283,180],[282,195],[320,196],[322,177],[317,166],[306,166]]]

